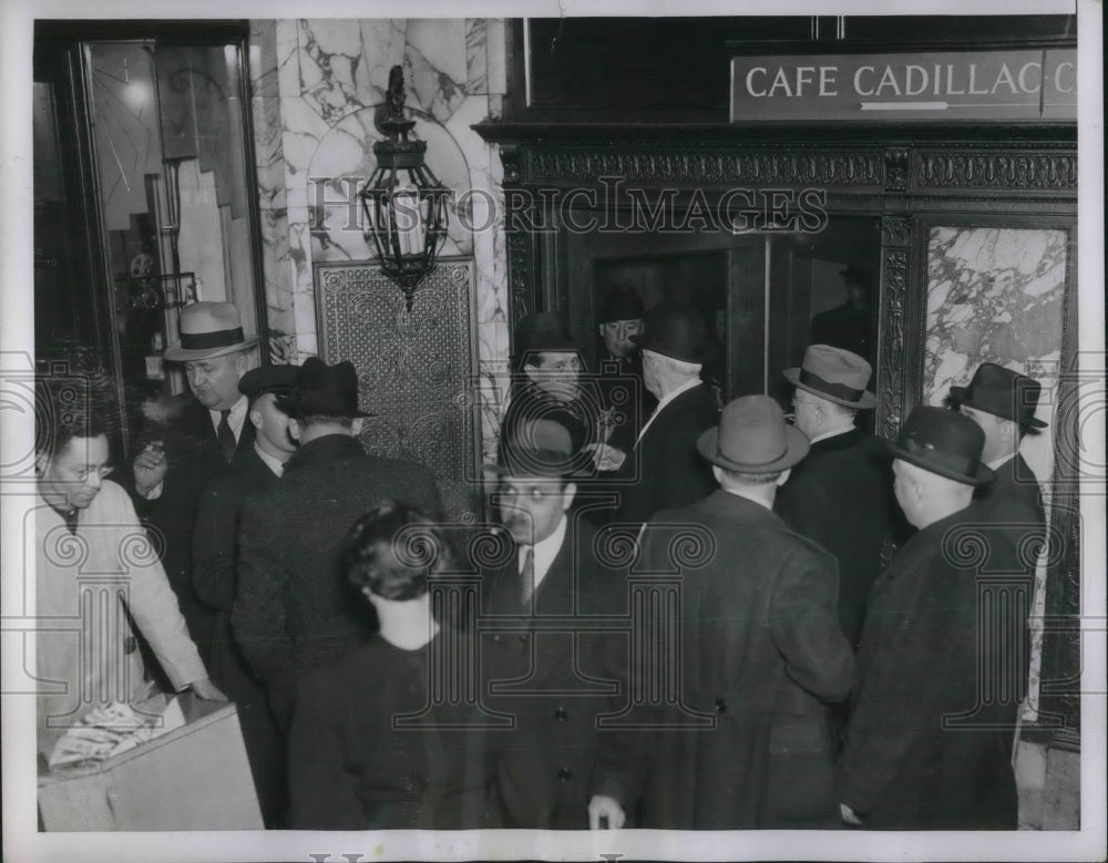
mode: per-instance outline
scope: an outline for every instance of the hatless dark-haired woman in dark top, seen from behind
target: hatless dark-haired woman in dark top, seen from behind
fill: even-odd
[[[454,705],[448,716],[432,700],[468,638],[432,614],[429,582],[454,568],[445,532],[414,507],[386,501],[351,527],[343,561],[380,631],[300,681],[289,826],[495,826],[478,709],[460,716]]]

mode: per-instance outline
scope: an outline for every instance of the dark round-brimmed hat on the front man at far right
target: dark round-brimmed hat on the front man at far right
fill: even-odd
[[[896,459],[948,480],[986,485],[996,479],[996,474],[981,463],[985,446],[981,427],[946,408],[919,405],[904,422],[896,442],[885,440],[884,443]]]

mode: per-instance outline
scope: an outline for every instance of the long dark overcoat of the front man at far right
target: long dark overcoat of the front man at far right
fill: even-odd
[[[839,800],[889,830],[1015,830],[1014,699],[982,699],[1026,620],[982,639],[976,504],[915,534],[873,587]],[[970,549],[968,554],[964,552]]]

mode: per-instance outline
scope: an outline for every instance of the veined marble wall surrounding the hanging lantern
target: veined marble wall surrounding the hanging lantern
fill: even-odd
[[[268,210],[263,234],[270,327],[288,333],[296,358],[315,353],[314,267],[372,257],[357,199],[353,219],[350,201],[376,165],[372,145],[381,133],[373,120],[389,70],[403,64],[414,136],[428,142],[429,166],[453,192],[441,254],[472,255],[476,261],[479,376],[488,390],[481,395],[483,433],[486,452],[494,454],[507,361],[507,266],[502,226],[493,220],[501,207],[493,208],[492,219],[480,218],[490,224],[474,232],[470,213],[458,206],[466,206],[465,193],[474,188],[501,197],[495,148],[470,126],[495,115],[494,102],[499,112],[503,21],[299,19],[255,22],[254,29],[258,51],[252,54],[252,74],[263,88],[256,93],[268,97],[254,110],[259,144],[265,142],[258,147],[258,178],[259,203]]]

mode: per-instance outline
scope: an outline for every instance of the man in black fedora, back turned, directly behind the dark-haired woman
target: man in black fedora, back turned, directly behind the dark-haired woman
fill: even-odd
[[[442,501],[422,464],[368,454],[358,376],[350,362],[309,357],[291,395],[278,397],[300,448],[271,490],[246,499],[238,533],[235,638],[265,684],[283,731],[300,676],[337,660],[377,629],[346,582],[342,544],[350,525],[384,499],[440,517]],[[353,593],[351,593],[353,592]]]

